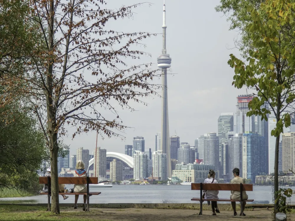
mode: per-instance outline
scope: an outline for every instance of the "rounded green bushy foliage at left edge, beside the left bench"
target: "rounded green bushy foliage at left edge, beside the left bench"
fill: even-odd
[[[39,190],[38,174],[46,157],[44,136],[37,123],[17,105],[0,108],[0,188]]]

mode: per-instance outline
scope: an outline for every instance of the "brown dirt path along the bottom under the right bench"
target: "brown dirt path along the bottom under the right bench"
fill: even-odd
[[[233,216],[233,212],[222,211],[217,216],[212,216],[212,212],[204,211],[203,216],[198,216],[198,210],[156,210],[156,209],[94,209],[91,214],[83,216],[85,218],[96,218],[98,220],[120,220],[120,221],[195,221],[195,220],[272,220],[270,210],[245,211],[246,217]],[[82,217],[81,217],[82,218]],[[292,214],[291,220],[295,220]]]

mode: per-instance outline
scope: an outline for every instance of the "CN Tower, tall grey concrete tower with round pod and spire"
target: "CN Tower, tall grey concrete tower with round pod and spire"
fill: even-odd
[[[161,150],[167,155],[167,175],[172,177],[171,158],[170,158],[170,138],[169,138],[169,122],[168,122],[168,92],[167,92],[167,68],[171,67],[171,58],[166,50],[166,10],[165,0],[163,8],[163,49],[162,54],[158,57],[158,67],[162,69],[162,134],[161,134]]]

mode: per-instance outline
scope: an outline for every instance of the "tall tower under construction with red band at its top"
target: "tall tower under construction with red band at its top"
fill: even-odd
[[[249,111],[248,103],[253,99],[250,95],[239,95],[237,97],[236,132],[255,132],[255,116],[247,117]]]

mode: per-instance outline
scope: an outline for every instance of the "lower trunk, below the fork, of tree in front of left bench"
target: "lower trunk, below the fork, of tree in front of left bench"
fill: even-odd
[[[60,213],[59,210],[59,195],[58,195],[58,140],[57,134],[49,134],[50,144],[50,166],[51,166],[51,211],[53,213]]]

